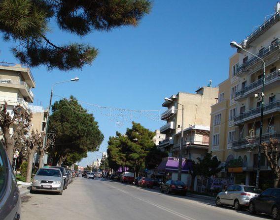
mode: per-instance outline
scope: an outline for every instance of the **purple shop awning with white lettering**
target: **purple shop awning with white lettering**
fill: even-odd
[[[157,167],[158,172],[177,172],[179,165],[179,159],[175,157],[164,158],[160,165]],[[188,172],[192,170],[192,161],[183,158],[182,172]]]

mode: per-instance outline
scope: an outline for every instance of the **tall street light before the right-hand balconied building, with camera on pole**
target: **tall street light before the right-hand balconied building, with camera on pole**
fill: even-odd
[[[261,97],[261,122],[260,122],[260,134],[259,134],[258,166],[257,166],[257,176],[256,176],[256,187],[259,187],[259,181],[260,181],[260,161],[261,161],[261,142],[262,142],[262,128],[263,128],[263,109],[264,109],[263,97],[264,97],[264,82],[265,82],[265,79],[264,79],[265,78],[265,61],[261,57],[259,57],[257,55],[254,55],[251,52],[245,50],[241,45],[239,45],[235,41],[232,41],[230,43],[230,46],[232,48],[237,48],[237,49],[243,50],[243,51],[247,52],[248,54],[257,57],[258,59],[260,59],[263,62],[262,92],[259,93],[259,95],[258,95],[258,97]]]

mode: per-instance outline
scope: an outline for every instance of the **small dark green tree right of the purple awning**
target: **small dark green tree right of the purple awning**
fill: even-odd
[[[192,190],[194,187],[194,180],[197,175],[203,176],[204,178],[210,178],[221,171],[220,161],[216,157],[212,157],[212,152],[206,152],[203,159],[197,158],[197,163],[193,161],[193,169],[191,171],[192,176]]]

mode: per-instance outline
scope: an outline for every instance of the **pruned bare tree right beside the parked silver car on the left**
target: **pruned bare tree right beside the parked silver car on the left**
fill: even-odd
[[[32,175],[32,165],[34,160],[34,154],[37,151],[38,147],[43,144],[44,136],[41,132],[36,132],[32,130],[30,136],[24,136],[23,140],[26,145],[27,153],[28,153],[28,165],[27,165],[27,172],[26,172],[26,182],[31,182],[31,175]]]

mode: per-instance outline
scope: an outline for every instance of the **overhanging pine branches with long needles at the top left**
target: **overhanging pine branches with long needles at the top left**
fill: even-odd
[[[20,62],[70,70],[90,64],[98,50],[82,43],[57,45],[47,38],[51,21],[82,37],[136,27],[150,9],[149,0],[0,0],[0,31],[6,41],[16,42],[12,52]]]

